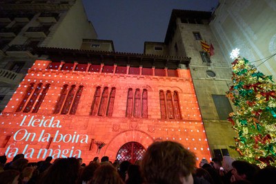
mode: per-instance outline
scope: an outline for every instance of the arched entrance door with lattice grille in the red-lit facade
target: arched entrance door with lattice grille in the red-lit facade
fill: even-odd
[[[142,156],[146,152],[146,149],[138,142],[127,142],[124,144],[117,153],[117,160],[128,160],[134,164],[136,160],[141,160]]]

